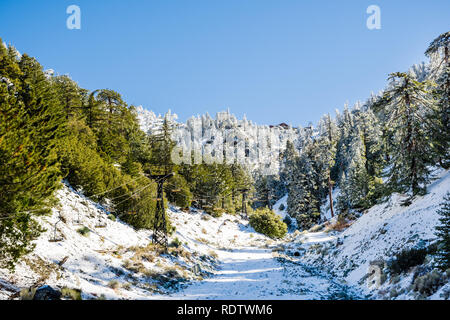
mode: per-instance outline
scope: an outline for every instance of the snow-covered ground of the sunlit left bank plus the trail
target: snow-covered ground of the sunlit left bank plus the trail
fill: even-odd
[[[356,297],[283,253],[283,241],[256,233],[238,216],[168,210],[182,245],[168,254],[148,247],[151,231],[135,231],[69,186],[47,229],[15,272],[0,269],[0,299],[50,285],[79,289],[83,299],[329,299]],[[63,241],[51,242],[55,236]],[[96,227],[97,226],[97,227]],[[98,226],[104,226],[98,228]],[[86,227],[86,235],[78,232]],[[61,265],[59,265],[61,264]]]

